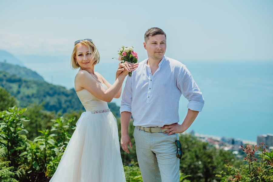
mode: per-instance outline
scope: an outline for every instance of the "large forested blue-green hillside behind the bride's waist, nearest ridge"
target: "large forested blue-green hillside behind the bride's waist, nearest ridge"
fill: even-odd
[[[68,113],[84,110],[75,89],[68,90],[63,86],[25,79],[4,71],[0,71],[0,86],[14,96],[22,107],[31,103],[44,103],[48,111]],[[108,106],[116,116],[120,116],[119,107],[115,103],[108,103]]]

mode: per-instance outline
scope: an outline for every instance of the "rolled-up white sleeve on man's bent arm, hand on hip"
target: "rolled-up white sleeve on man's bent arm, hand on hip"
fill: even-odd
[[[180,89],[183,96],[189,101],[187,108],[201,112],[204,106],[204,98],[185,65],[182,65],[178,72],[177,87]]]

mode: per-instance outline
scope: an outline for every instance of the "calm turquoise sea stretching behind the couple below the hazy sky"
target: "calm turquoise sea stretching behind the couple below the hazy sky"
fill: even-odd
[[[77,70],[69,67],[69,56],[17,57],[45,81],[73,88]],[[202,112],[187,132],[248,141],[256,141],[258,135],[273,133],[273,60],[180,62],[193,75],[205,100]],[[116,59],[100,60],[95,71],[113,83],[117,65]],[[120,106],[120,101],[121,98],[112,102]],[[182,95],[180,123],[187,114],[187,103]]]

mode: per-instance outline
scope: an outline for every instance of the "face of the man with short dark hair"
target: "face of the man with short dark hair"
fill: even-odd
[[[149,39],[143,43],[147,50],[148,57],[151,59],[162,59],[166,52],[166,37],[165,35],[150,36]]]

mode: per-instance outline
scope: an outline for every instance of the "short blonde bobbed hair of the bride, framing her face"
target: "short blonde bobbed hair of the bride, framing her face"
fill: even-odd
[[[90,42],[88,40],[83,40],[82,42],[79,42],[74,46],[74,49],[71,55],[71,60],[70,60],[70,66],[73,69],[78,69],[80,67],[78,62],[76,62],[76,50],[79,45],[85,45],[86,47],[88,47],[89,51],[92,49],[93,54],[92,54],[91,60],[95,60],[93,65],[99,63],[99,51],[96,48],[96,46],[93,44],[93,42]]]

